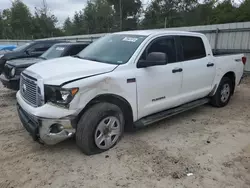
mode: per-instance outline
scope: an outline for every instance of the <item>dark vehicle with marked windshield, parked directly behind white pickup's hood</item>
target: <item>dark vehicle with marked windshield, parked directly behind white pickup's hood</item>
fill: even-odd
[[[37,58],[19,58],[6,62],[0,80],[2,84],[13,90],[19,90],[20,74],[27,67],[40,61],[64,56],[73,56],[82,51],[89,43],[58,43],[50,47]]]

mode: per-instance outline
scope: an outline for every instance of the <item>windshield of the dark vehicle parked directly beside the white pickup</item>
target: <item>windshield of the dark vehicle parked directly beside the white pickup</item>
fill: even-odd
[[[42,59],[53,59],[57,57],[61,57],[64,50],[68,45],[54,45],[50,47],[46,52],[43,53],[40,57]]]

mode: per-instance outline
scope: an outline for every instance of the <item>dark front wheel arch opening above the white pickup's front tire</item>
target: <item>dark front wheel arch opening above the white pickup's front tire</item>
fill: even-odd
[[[100,94],[94,97],[91,101],[87,103],[85,108],[79,113],[77,122],[80,120],[84,112],[86,112],[94,104],[100,102],[108,102],[111,104],[115,104],[119,108],[121,108],[125,119],[125,130],[131,130],[134,128],[133,110],[130,103],[125,98],[116,94]]]

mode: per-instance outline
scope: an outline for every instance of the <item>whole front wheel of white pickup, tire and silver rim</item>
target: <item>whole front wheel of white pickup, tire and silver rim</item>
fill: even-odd
[[[77,125],[76,143],[87,155],[104,152],[114,147],[124,130],[121,109],[111,103],[90,107]]]

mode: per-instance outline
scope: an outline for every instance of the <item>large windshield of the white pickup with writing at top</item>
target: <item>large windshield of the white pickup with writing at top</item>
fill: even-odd
[[[110,64],[127,63],[146,36],[112,34],[89,45],[78,56],[82,59]]]

